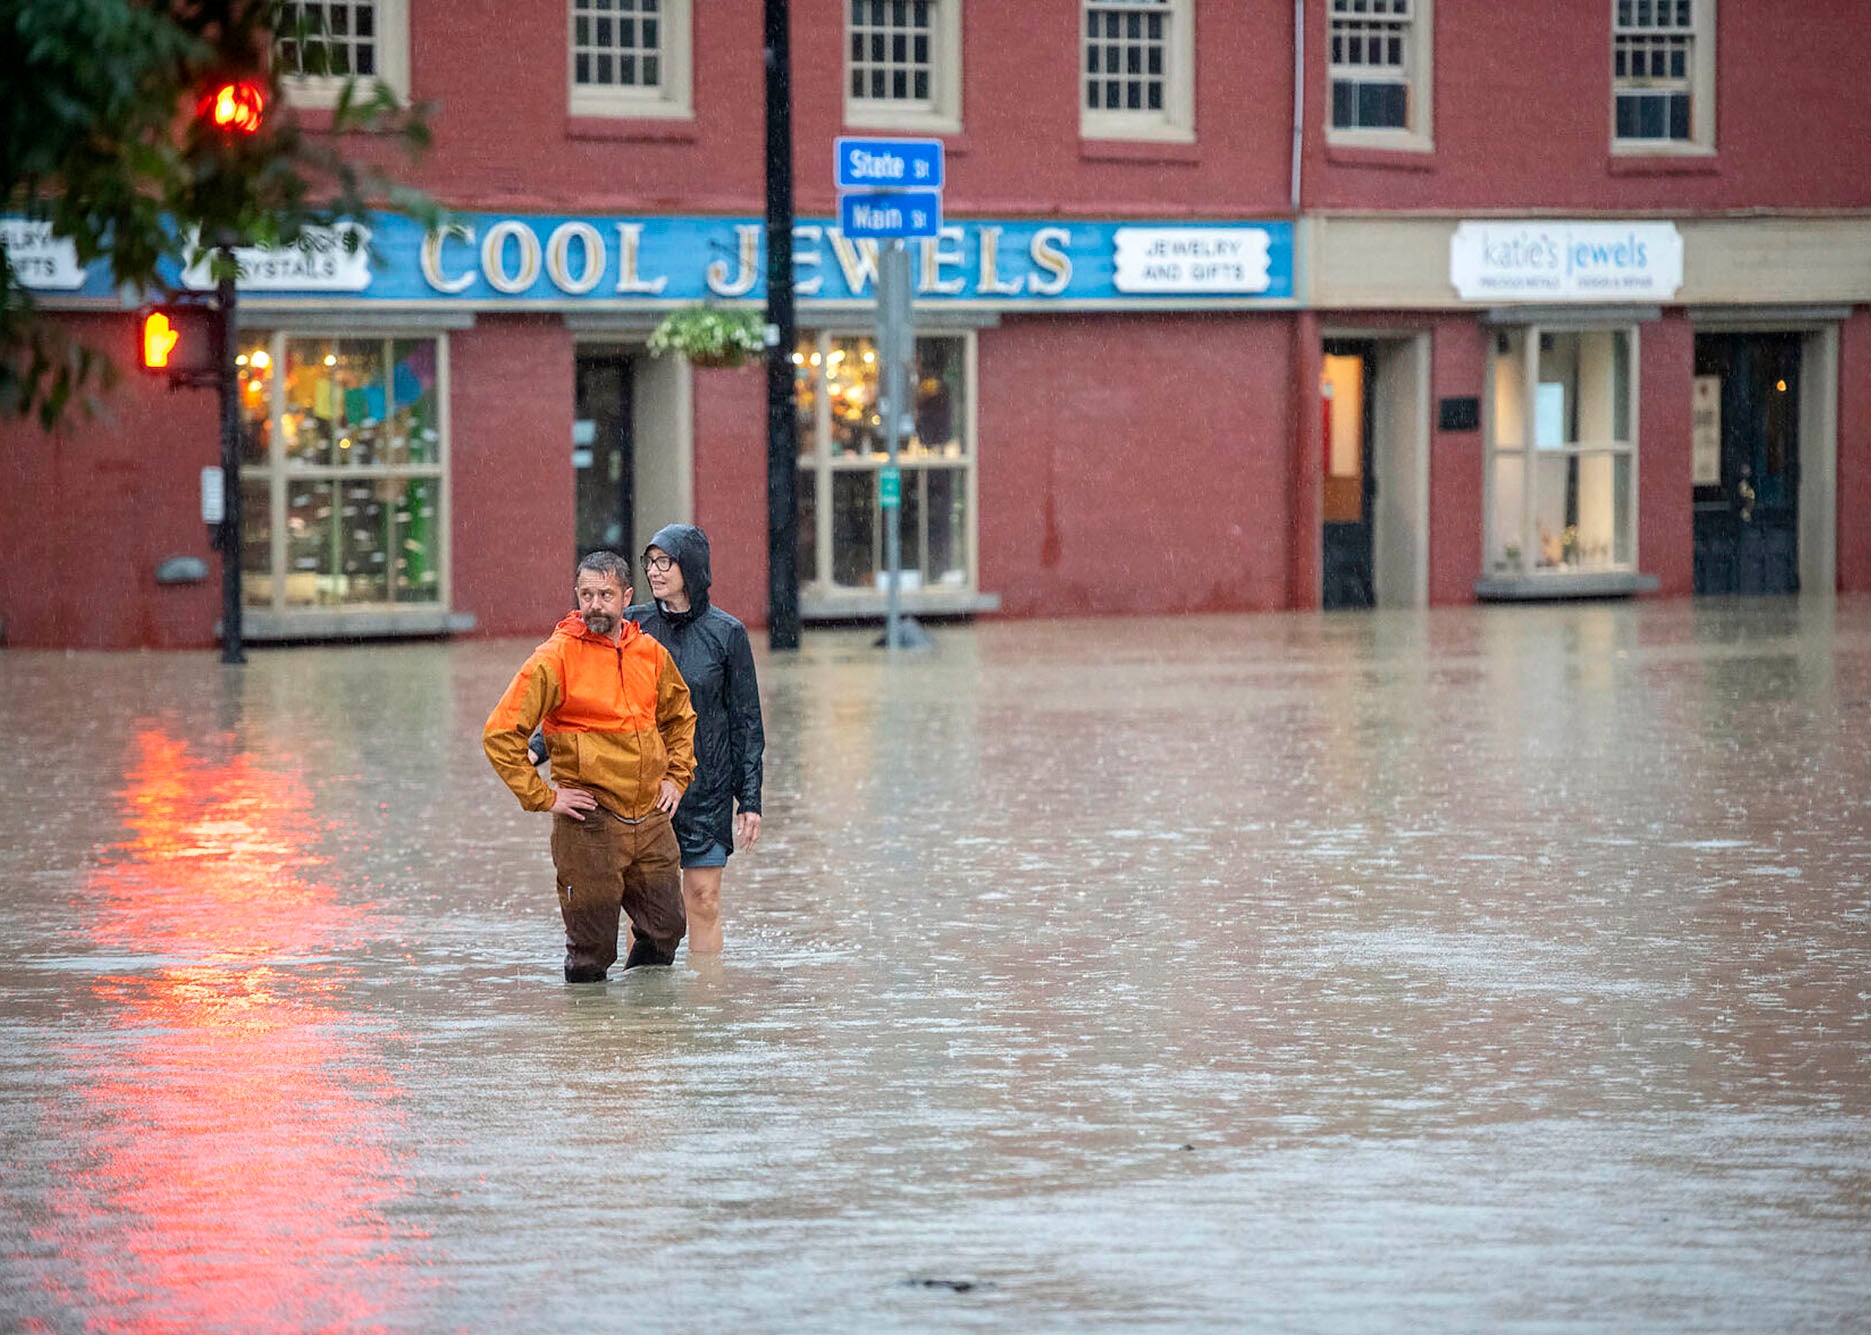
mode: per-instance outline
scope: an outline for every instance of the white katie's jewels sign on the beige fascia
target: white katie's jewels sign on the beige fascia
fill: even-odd
[[[1682,286],[1675,222],[1463,222],[1448,241],[1463,301],[1663,301]]]

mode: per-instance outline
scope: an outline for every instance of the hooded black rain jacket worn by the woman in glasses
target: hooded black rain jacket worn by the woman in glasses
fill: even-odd
[[[767,750],[754,649],[747,626],[707,598],[711,576],[702,529],[670,524],[657,529],[649,546],[675,557],[689,595],[689,611],[640,602],[623,613],[670,651],[696,711],[696,778],[675,808],[675,840],[687,854],[707,853],[715,843],[733,853],[733,810],[739,804],[743,811],[760,811]]]

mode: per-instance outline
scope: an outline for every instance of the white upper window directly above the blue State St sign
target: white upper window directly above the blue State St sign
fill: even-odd
[[[848,0],[844,118],[962,129],[962,0]]]

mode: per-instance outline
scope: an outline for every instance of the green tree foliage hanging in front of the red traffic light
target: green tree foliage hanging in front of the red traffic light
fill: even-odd
[[[423,108],[348,82],[331,136],[307,136],[268,50],[297,39],[318,73],[324,47],[283,30],[284,13],[286,0],[0,0],[0,213],[51,221],[80,264],[109,260],[138,292],[159,286],[163,264],[223,243],[284,245],[311,226],[367,221],[372,206],[434,221],[428,200],[333,148],[361,129],[419,151]],[[198,95],[226,77],[266,88],[258,135],[196,122]],[[97,353],[41,318],[0,249],[0,419],[51,426],[101,376]]]

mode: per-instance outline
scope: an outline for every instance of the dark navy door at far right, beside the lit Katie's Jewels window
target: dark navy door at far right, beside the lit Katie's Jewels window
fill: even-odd
[[[1798,593],[1800,335],[1697,335],[1695,378],[1695,591]]]

